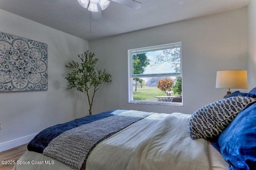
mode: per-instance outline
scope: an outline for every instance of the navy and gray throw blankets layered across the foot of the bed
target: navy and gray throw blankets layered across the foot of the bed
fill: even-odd
[[[34,137],[28,150],[43,153],[70,168],[85,168],[91,150],[101,141],[152,113],[115,110],[49,127]]]

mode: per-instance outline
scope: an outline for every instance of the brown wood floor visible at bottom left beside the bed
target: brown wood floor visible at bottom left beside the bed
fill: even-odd
[[[15,162],[20,158],[20,156],[22,154],[24,154],[24,152],[27,149],[27,145],[21,145],[19,147],[16,148],[12,148],[10,150],[6,150],[3,152],[0,152],[0,161],[1,160],[15,160]],[[13,168],[14,165],[3,165],[0,163],[0,170],[11,170]]]

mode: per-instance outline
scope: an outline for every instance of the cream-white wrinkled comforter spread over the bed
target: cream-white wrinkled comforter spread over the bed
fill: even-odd
[[[189,117],[154,113],[133,123],[99,143],[88,157],[86,170],[210,170],[207,141],[190,138]],[[27,151],[20,160],[52,159]],[[14,169],[70,168],[54,160],[50,165],[15,165]]]

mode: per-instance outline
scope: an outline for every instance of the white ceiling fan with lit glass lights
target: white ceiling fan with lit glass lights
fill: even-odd
[[[109,0],[77,0],[79,4],[88,8],[89,11],[92,12],[92,18],[94,20],[99,20],[101,18],[101,10],[105,10],[110,4]],[[119,4],[128,6],[133,9],[139,9],[141,7],[141,3],[135,0],[112,0]]]

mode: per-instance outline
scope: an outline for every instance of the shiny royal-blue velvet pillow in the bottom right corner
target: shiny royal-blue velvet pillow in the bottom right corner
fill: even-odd
[[[220,134],[218,147],[229,170],[256,170],[256,103],[244,108]]]

